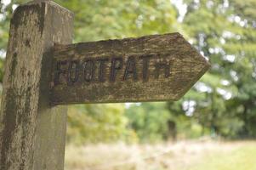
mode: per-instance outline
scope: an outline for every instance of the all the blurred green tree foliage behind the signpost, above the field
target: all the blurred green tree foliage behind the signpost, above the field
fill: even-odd
[[[74,42],[179,31],[212,64],[177,102],[70,106],[68,142],[256,137],[255,0],[184,0],[183,8],[169,0],[55,2],[75,13]],[[20,3],[0,3],[0,82],[9,20]]]

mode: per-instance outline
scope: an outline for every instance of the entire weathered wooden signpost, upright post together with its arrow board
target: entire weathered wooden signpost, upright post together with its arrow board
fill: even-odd
[[[71,44],[72,22],[70,11],[46,0],[14,12],[1,170],[63,169],[65,105],[177,100],[209,68],[179,33]]]

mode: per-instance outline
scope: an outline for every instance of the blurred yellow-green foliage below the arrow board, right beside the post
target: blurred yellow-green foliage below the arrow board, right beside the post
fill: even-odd
[[[69,107],[67,142],[72,144],[136,142],[137,136],[127,128],[124,105],[76,105]]]

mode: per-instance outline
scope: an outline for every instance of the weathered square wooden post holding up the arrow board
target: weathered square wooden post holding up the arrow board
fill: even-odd
[[[71,43],[73,15],[50,1],[14,12],[0,112],[0,169],[62,170],[65,107],[49,107],[54,42]]]

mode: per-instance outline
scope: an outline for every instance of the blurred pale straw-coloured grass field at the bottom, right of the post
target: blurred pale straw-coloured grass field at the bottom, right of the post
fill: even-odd
[[[65,170],[256,170],[256,142],[68,145]]]

